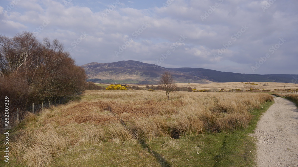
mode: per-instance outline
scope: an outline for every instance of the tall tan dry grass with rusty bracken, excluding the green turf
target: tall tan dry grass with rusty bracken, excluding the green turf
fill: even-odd
[[[74,146],[231,133],[272,100],[266,93],[176,92],[167,101],[162,91],[86,91],[81,101],[28,114],[27,129],[11,142],[13,155],[27,166],[46,166]]]

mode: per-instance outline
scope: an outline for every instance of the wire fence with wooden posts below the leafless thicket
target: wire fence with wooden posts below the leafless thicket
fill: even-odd
[[[6,126],[7,122],[4,118],[4,114],[1,116],[1,121],[0,121],[0,133],[4,132],[4,128],[10,128],[12,129],[13,127],[15,127],[15,125],[17,125],[18,123],[20,123],[22,120],[24,120],[25,115],[27,112],[32,112],[34,114],[38,114],[39,112],[41,112],[43,109],[49,109],[52,106],[57,106],[59,104],[64,104],[66,101],[67,97],[65,98],[61,98],[60,100],[56,100],[53,102],[47,102],[47,103],[41,103],[41,104],[35,104],[32,103],[31,106],[28,106],[24,109],[10,109],[9,110],[9,114],[8,114],[8,118],[9,118],[9,122],[8,125]]]

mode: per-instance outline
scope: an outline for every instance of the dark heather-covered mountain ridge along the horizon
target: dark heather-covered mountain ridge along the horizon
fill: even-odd
[[[164,72],[170,72],[176,82],[285,82],[292,83],[294,75],[287,74],[239,74],[201,68],[164,68],[139,61],[114,63],[88,63],[85,69],[88,80],[93,82],[157,83]]]

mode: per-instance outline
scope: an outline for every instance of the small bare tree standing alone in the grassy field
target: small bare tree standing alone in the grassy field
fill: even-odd
[[[170,93],[175,91],[177,84],[174,82],[173,76],[169,72],[162,74],[159,80],[159,85],[167,93],[167,98],[170,100]]]

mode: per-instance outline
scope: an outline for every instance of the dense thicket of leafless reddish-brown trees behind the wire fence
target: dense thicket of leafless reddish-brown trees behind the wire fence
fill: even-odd
[[[86,74],[58,40],[39,42],[31,32],[0,35],[0,99],[10,111],[55,101],[84,90]],[[4,103],[0,103],[0,112]]]

